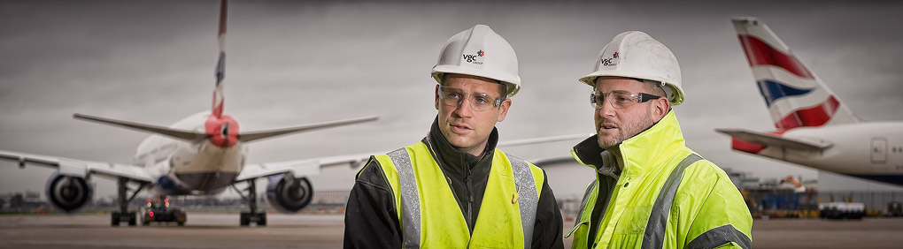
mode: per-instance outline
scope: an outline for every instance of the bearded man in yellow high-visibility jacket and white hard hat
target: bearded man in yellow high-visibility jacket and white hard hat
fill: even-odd
[[[568,233],[573,248],[750,248],[740,191],[687,148],[671,106],[684,101],[675,55],[644,32],[622,32],[583,78],[598,134],[573,147],[596,171]]]

